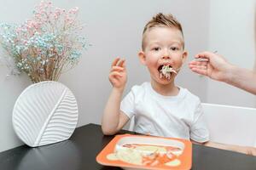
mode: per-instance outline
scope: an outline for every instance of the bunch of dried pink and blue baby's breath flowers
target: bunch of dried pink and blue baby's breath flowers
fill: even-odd
[[[32,82],[57,81],[62,68],[73,68],[78,62],[85,45],[84,39],[78,38],[83,28],[76,18],[78,10],[54,8],[51,2],[42,1],[33,11],[32,20],[15,27],[14,38],[8,37],[10,47],[17,47],[9,54],[19,53],[17,66]]]

